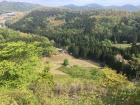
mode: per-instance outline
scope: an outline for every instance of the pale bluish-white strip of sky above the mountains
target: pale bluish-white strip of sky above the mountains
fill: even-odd
[[[5,0],[0,0],[5,1]],[[7,0],[7,1],[18,1],[18,2],[30,2],[35,4],[42,4],[46,6],[60,6],[67,4],[86,5],[91,3],[97,3],[100,5],[140,5],[140,0]]]

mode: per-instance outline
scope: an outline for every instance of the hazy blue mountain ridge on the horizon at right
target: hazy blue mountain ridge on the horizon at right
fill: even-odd
[[[77,6],[74,4],[63,6],[69,9],[118,9],[118,10],[127,10],[127,11],[138,11],[140,10],[140,6],[134,6],[131,4],[126,4],[123,6],[103,6],[99,4],[88,4],[84,6]]]

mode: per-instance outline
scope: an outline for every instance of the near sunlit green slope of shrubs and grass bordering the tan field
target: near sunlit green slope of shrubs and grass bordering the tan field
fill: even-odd
[[[56,54],[43,36],[0,29],[1,105],[139,105],[139,84],[110,68],[68,66],[52,75],[42,57]],[[65,65],[67,64],[67,65]]]

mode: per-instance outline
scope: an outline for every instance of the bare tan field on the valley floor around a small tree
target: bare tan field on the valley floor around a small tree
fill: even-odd
[[[65,59],[68,59],[69,66],[79,65],[80,67],[94,67],[99,68],[99,64],[90,60],[82,60],[72,57],[69,54],[57,54],[51,57],[45,57],[42,59],[42,61],[46,64],[49,63],[50,65],[50,73],[53,75],[67,75],[66,73],[59,70],[59,68],[62,66]]]

